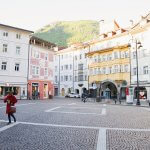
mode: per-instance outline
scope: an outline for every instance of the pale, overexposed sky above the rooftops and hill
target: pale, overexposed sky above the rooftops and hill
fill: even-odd
[[[121,27],[150,12],[150,0],[0,0],[0,23],[36,31],[54,21],[112,20]]]

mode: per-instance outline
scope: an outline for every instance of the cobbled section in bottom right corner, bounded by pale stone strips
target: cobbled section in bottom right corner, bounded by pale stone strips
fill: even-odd
[[[107,130],[107,150],[150,150],[150,132]]]

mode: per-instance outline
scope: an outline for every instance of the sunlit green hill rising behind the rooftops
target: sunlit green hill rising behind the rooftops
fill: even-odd
[[[92,20],[61,21],[46,25],[35,33],[35,36],[59,46],[86,42],[97,38],[99,23]]]

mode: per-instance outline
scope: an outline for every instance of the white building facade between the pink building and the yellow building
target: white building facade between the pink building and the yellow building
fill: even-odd
[[[88,89],[87,52],[87,46],[72,45],[55,53],[55,95],[65,96],[70,92],[81,95],[83,89]]]

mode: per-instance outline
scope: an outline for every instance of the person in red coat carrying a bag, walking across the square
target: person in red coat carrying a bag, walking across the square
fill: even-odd
[[[16,122],[16,118],[14,116],[14,113],[11,110],[11,106],[14,106],[15,103],[17,103],[16,97],[13,95],[13,92],[10,91],[8,95],[4,98],[4,103],[7,103],[6,105],[6,114],[8,114],[8,124],[11,123],[11,117],[13,117],[14,122]]]

